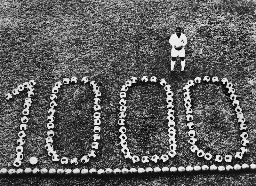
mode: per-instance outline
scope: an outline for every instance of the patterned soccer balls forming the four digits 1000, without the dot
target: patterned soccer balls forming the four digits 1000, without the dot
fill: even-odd
[[[212,81],[211,81],[212,80]],[[128,91],[128,89],[132,86],[135,86],[138,83],[138,78],[136,77],[132,77],[131,80],[128,80],[125,82],[125,85],[122,86],[121,88],[121,92],[119,94],[120,96],[120,112],[118,114],[119,120],[118,120],[118,125],[120,126],[119,128],[119,132],[120,132],[120,146],[121,146],[121,151],[124,154],[124,158],[125,159],[131,159],[133,163],[139,162],[141,160],[142,163],[148,163],[150,160],[157,163],[159,161],[162,162],[167,162],[170,158],[173,158],[177,155],[176,153],[176,149],[177,149],[177,140],[176,140],[176,129],[175,129],[175,117],[174,117],[174,105],[173,105],[173,93],[171,91],[171,86],[167,84],[167,82],[164,79],[161,79],[160,81],[157,81],[157,78],[155,76],[152,76],[150,78],[148,78],[147,76],[143,76],[141,78],[141,83],[157,83],[159,82],[159,84],[164,87],[164,91],[166,92],[166,107],[168,109],[167,112],[167,119],[168,119],[168,137],[169,137],[169,152],[168,154],[163,154],[161,155],[161,157],[159,157],[158,155],[153,155],[151,158],[149,158],[148,156],[142,156],[141,158],[137,155],[132,155],[132,152],[130,152],[129,148],[128,148],[128,144],[126,142],[127,140],[127,136],[126,136],[126,122],[125,122],[125,117],[126,117],[126,93]],[[93,94],[94,94],[94,99],[93,99],[93,109],[94,109],[94,128],[93,128],[93,143],[91,145],[92,150],[90,150],[88,152],[88,154],[83,155],[80,158],[81,163],[85,164],[88,163],[90,161],[91,158],[95,158],[97,155],[96,150],[99,149],[99,140],[100,140],[100,96],[101,96],[101,92],[100,92],[100,88],[97,86],[97,83],[95,81],[90,81],[88,80],[87,77],[83,77],[81,80],[82,84],[89,84],[89,86],[92,88]],[[211,160],[213,158],[212,154],[210,153],[205,153],[202,149],[199,149],[196,145],[197,143],[197,139],[196,137],[196,132],[194,130],[195,125],[193,123],[193,110],[192,110],[192,105],[191,105],[191,96],[190,96],[190,89],[193,88],[197,83],[219,83],[219,79],[218,77],[213,77],[212,79],[209,76],[204,76],[203,80],[200,77],[196,77],[194,80],[189,80],[188,83],[184,86],[183,90],[184,90],[184,101],[185,101],[185,108],[186,108],[186,120],[188,121],[187,123],[187,128],[188,128],[188,136],[190,137],[190,139],[188,140],[188,143],[191,144],[190,150],[193,153],[196,153],[196,155],[198,157],[204,158],[206,160]],[[76,77],[72,77],[71,79],[69,78],[64,78],[63,79],[63,84],[75,84],[77,83],[77,78]],[[50,96],[51,102],[50,102],[50,108],[48,110],[48,123],[47,123],[47,128],[48,128],[48,132],[47,132],[47,137],[45,139],[45,150],[48,152],[48,155],[51,157],[52,161],[60,161],[61,164],[68,164],[68,158],[67,157],[60,157],[57,152],[53,149],[53,137],[54,137],[54,131],[52,130],[54,128],[54,120],[55,120],[55,116],[54,114],[56,113],[56,110],[54,109],[57,106],[56,100],[57,100],[57,94],[59,92],[59,89],[61,88],[61,86],[63,85],[62,82],[56,82],[54,84],[54,87],[52,88],[52,95]],[[237,116],[237,121],[239,123],[240,126],[240,131],[241,133],[241,144],[242,147],[240,148],[240,150],[238,152],[236,152],[235,154],[235,159],[242,159],[243,155],[247,153],[247,149],[246,146],[248,145],[249,141],[247,140],[248,138],[248,134],[246,132],[247,130],[247,126],[245,123],[245,119],[244,119],[244,115],[242,113],[242,108],[239,105],[239,101],[236,100],[236,94],[235,94],[235,89],[233,88],[233,84],[228,82],[228,80],[226,78],[222,78],[221,80],[221,84],[222,86],[224,86],[227,90],[228,90],[228,94],[230,95],[230,100],[232,100],[232,105],[235,108],[236,111],[236,116]],[[25,103],[23,105],[24,109],[22,111],[22,118],[21,118],[21,123],[20,124],[20,132],[18,133],[19,139],[17,140],[17,144],[18,146],[16,147],[16,156],[15,156],[15,160],[13,162],[13,165],[16,167],[20,167],[22,162],[21,160],[23,159],[23,146],[25,144],[24,141],[24,137],[26,136],[25,131],[27,130],[27,125],[26,123],[29,121],[29,118],[27,118],[28,114],[29,114],[29,107],[32,104],[32,99],[31,97],[34,96],[34,85],[36,85],[36,82],[34,80],[30,80],[29,82],[26,81],[23,84],[20,84],[17,89],[13,89],[12,90],[12,94],[8,93],[6,94],[6,99],[11,99],[12,95],[17,95],[20,92],[22,92],[25,88],[27,88],[28,92],[27,92],[27,97],[25,99]],[[223,160],[223,157],[221,155],[216,155],[215,159],[216,162],[221,162]],[[224,160],[226,162],[231,162],[232,161],[232,155],[225,155]],[[77,165],[79,163],[79,160],[75,157],[72,158],[70,160],[70,164],[71,165]]]

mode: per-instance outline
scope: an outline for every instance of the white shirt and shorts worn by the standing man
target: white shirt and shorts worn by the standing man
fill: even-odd
[[[169,43],[172,45],[172,51],[171,51],[171,56],[172,57],[185,57],[185,49],[184,46],[188,43],[187,37],[185,34],[180,33],[180,38],[178,38],[177,34],[171,35],[169,39]],[[176,50],[174,46],[183,46],[181,50]]]

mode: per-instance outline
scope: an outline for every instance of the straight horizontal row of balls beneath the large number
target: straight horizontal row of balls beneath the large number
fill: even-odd
[[[103,176],[103,175],[143,175],[143,174],[176,174],[176,173],[207,173],[207,172],[218,172],[218,173],[231,173],[231,172],[239,172],[239,171],[256,171],[256,164],[252,163],[251,165],[248,165],[246,163],[242,164],[241,166],[239,164],[236,164],[234,166],[227,165],[226,167],[224,166],[215,166],[211,165],[210,167],[207,165],[203,165],[202,167],[196,165],[195,167],[187,166],[187,167],[147,167],[146,169],[144,168],[123,168],[119,169],[116,168],[112,170],[111,168],[107,168],[106,170],[99,169],[96,170],[95,168],[91,169],[46,169],[42,168],[41,170],[38,168],[34,168],[33,170],[31,168],[25,168],[24,170],[19,168],[17,170],[11,168],[7,170],[6,168],[2,168],[0,170],[0,175],[1,176],[14,176],[14,175],[42,175],[42,176],[47,176],[47,175],[74,175],[74,176]]]

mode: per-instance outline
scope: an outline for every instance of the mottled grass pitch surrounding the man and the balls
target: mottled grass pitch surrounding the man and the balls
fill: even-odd
[[[0,3],[0,167],[12,168],[25,94],[4,95],[34,79],[22,168],[31,156],[38,168],[66,168],[44,150],[52,86],[65,77],[87,76],[101,96],[100,150],[79,168],[131,168],[211,165],[190,152],[183,86],[204,75],[234,84],[248,126],[249,153],[238,163],[256,162],[255,2],[253,1],[1,1]],[[188,38],[185,72],[180,60],[170,72],[168,40],[180,26]],[[167,164],[132,164],[121,153],[118,134],[119,92],[132,76],[164,78],[174,93],[177,157]],[[216,154],[240,148],[234,108],[220,84],[196,85],[191,91],[198,146]],[[127,137],[133,154],[168,152],[165,91],[139,83],[127,92]],[[65,85],[58,94],[54,148],[80,159],[92,143],[93,94],[88,85]],[[232,165],[237,161],[233,160]],[[217,165],[217,164],[216,164]],[[227,165],[222,163],[221,165]],[[70,166],[67,166],[70,167]],[[72,167],[74,168],[74,167]],[[197,174],[113,178],[1,178],[1,185],[255,185],[254,173]]]

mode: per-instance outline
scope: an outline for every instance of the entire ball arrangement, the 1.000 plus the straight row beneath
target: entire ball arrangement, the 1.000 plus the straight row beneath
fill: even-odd
[[[148,76],[143,76],[141,78],[142,82],[151,82],[151,83],[156,83],[157,82],[157,78],[155,76],[152,76],[151,78],[148,78]],[[206,160],[211,160],[212,159],[212,154],[210,153],[205,153],[202,149],[199,149],[196,145],[197,143],[197,139],[196,137],[196,132],[194,130],[195,125],[192,122],[193,121],[193,110],[192,110],[192,105],[191,105],[191,97],[190,97],[190,89],[192,87],[195,86],[196,83],[201,83],[201,82],[210,82],[211,78],[209,76],[204,76],[203,81],[200,77],[196,77],[195,80],[189,80],[188,83],[183,87],[184,90],[184,101],[185,101],[185,108],[186,108],[186,120],[188,121],[187,123],[187,128],[188,128],[188,136],[190,137],[190,139],[188,140],[188,143],[191,144],[192,146],[190,147],[190,150],[193,153],[196,153],[196,155],[198,157],[204,157],[204,159]],[[63,84],[69,84],[69,83],[75,84],[77,83],[77,78],[76,77],[72,77],[72,78],[64,78],[63,79]],[[89,82],[87,77],[83,77],[81,82],[83,84],[87,84]],[[158,163],[160,160],[162,162],[167,162],[170,158],[174,158],[177,153],[176,153],[176,149],[177,149],[177,144],[176,144],[176,129],[175,127],[175,117],[174,117],[174,105],[173,105],[173,93],[171,91],[171,86],[167,85],[167,82],[164,79],[161,79],[159,81],[160,85],[164,87],[164,90],[166,91],[166,102],[167,102],[167,119],[168,119],[168,136],[169,136],[169,149],[170,151],[167,154],[163,154],[161,155],[161,157],[159,157],[158,155],[153,155],[151,158],[149,158],[148,156],[142,156],[141,158],[137,155],[132,155],[132,153],[130,152],[129,148],[128,148],[128,144],[126,142],[127,140],[127,136],[125,135],[126,133],[126,122],[125,122],[125,117],[126,117],[126,109],[127,107],[126,105],[126,92],[128,91],[128,88],[131,87],[132,85],[135,85],[138,82],[138,78],[136,77],[132,77],[131,80],[128,80],[125,82],[125,85],[122,86],[121,88],[121,92],[119,94],[120,96],[120,112],[118,114],[119,120],[118,120],[118,125],[120,126],[119,128],[119,132],[120,132],[120,146],[121,146],[121,151],[122,153],[124,153],[124,158],[125,159],[130,159],[132,160],[133,163],[137,163],[140,161],[142,163],[148,163],[150,160],[153,161],[154,163]],[[218,83],[219,79],[218,77],[213,77],[212,78],[212,82],[213,83]],[[54,137],[54,131],[52,130],[54,128],[54,120],[55,120],[55,112],[56,110],[54,109],[57,106],[57,103],[55,102],[57,100],[57,93],[59,92],[60,87],[63,85],[62,82],[56,82],[54,87],[52,88],[52,95],[50,96],[51,102],[50,102],[50,109],[48,110],[48,114],[49,116],[47,117],[48,123],[47,123],[47,128],[48,128],[48,132],[47,132],[47,138],[45,139],[45,150],[48,152],[48,155],[51,157],[52,161],[54,162],[58,162],[60,161],[60,163],[62,165],[66,165],[68,164],[68,158],[67,157],[60,157],[56,151],[53,149],[53,137]],[[239,101],[236,100],[237,95],[235,94],[235,89],[233,88],[233,84],[228,82],[228,80],[226,78],[222,78],[221,79],[221,84],[228,90],[228,94],[230,96],[230,99],[232,100],[232,105],[235,107],[235,112],[236,112],[236,117],[237,117],[237,121],[240,125],[240,131],[242,132],[240,137],[242,138],[241,144],[242,147],[240,148],[240,150],[238,152],[236,152],[235,154],[235,159],[240,160],[242,159],[243,155],[246,154],[248,152],[248,150],[245,148],[246,146],[248,146],[249,141],[248,141],[248,133],[246,132],[247,130],[247,126],[244,123],[245,122],[245,118],[244,115],[242,113],[242,108],[239,106]],[[16,147],[16,152],[17,154],[15,155],[15,160],[13,162],[13,165],[15,167],[20,167],[22,162],[21,160],[23,159],[23,146],[25,144],[25,140],[23,139],[26,134],[24,131],[27,130],[27,125],[26,123],[28,122],[28,115],[29,115],[29,107],[32,104],[32,100],[31,97],[34,96],[34,85],[36,85],[36,82],[34,80],[30,80],[29,82],[24,82],[23,84],[20,84],[17,89],[13,89],[12,90],[12,94],[8,93],[6,94],[6,99],[11,99],[12,95],[17,95],[20,92],[22,92],[25,88],[27,88],[28,92],[27,92],[27,97],[25,98],[25,103],[23,105],[24,109],[22,111],[23,117],[21,118],[21,123],[20,124],[20,132],[18,133],[19,139],[17,140],[17,144],[18,146]],[[94,109],[94,128],[93,128],[93,132],[95,133],[93,135],[93,142],[92,142],[92,150],[90,150],[88,152],[87,155],[83,155],[82,158],[80,159],[81,163],[85,164],[88,163],[90,161],[90,158],[95,158],[96,157],[96,151],[97,149],[99,149],[99,140],[100,140],[100,96],[101,93],[99,91],[99,87],[97,86],[97,83],[95,81],[91,81],[89,83],[90,87],[92,88],[92,91],[94,93],[94,99],[93,99],[93,109]],[[221,155],[216,155],[214,161],[216,163],[220,163],[222,162],[223,157]],[[226,162],[231,162],[232,161],[232,155],[225,155],[224,160]],[[37,164],[37,158],[36,157],[31,157],[29,159],[29,162],[31,165],[36,165]],[[70,159],[70,164],[73,166],[78,165],[79,161],[78,159],[72,158]],[[99,169],[96,170],[95,168],[91,168],[91,169],[79,169],[79,168],[74,168],[73,170],[67,168],[67,169],[46,169],[46,168],[42,168],[42,169],[38,169],[38,168],[34,168],[33,170],[31,168],[25,168],[24,170],[21,168],[18,168],[17,170],[11,168],[9,170],[2,168],[0,170],[0,175],[127,175],[127,174],[131,174],[131,175],[135,175],[135,174],[166,174],[166,173],[191,173],[191,172],[206,172],[206,171],[218,171],[218,172],[232,172],[234,171],[239,171],[239,170],[252,170],[255,171],[256,170],[256,165],[254,163],[250,164],[250,166],[246,163],[242,164],[241,166],[239,164],[236,164],[234,166],[232,165],[228,165],[226,167],[224,166],[216,166],[216,165],[211,165],[210,167],[207,165],[203,165],[203,166],[187,166],[187,167],[147,167],[146,169],[144,168],[135,168],[132,167],[130,169],[127,168],[123,168],[123,169],[119,169],[116,168],[114,170],[112,170],[111,168],[107,168],[106,170],[103,169]]]

